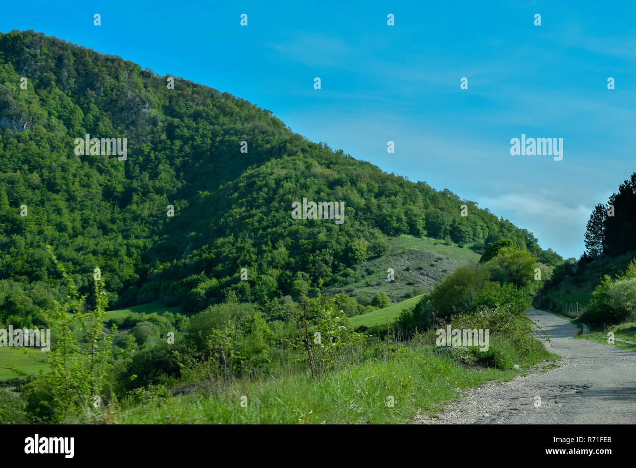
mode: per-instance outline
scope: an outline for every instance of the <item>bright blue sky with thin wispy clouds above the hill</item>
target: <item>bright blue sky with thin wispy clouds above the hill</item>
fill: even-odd
[[[636,170],[635,17],[631,2],[34,1],[4,4],[0,31],[34,29],[230,92],[578,257],[591,209]],[[563,138],[563,160],[511,155],[522,133]]]

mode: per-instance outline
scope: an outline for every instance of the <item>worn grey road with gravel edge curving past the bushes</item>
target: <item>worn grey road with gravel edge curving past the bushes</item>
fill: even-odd
[[[415,423],[636,423],[636,352],[573,339],[576,327],[551,313],[532,309],[528,315],[550,337],[548,350],[563,357],[558,369],[485,383],[445,406],[439,418],[418,416]]]

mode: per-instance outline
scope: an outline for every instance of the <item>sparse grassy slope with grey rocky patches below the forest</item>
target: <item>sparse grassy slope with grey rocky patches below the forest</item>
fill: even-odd
[[[447,274],[460,266],[476,263],[481,257],[468,246],[460,248],[436,239],[407,234],[388,241],[391,252],[357,265],[347,285],[328,287],[324,292],[355,293],[366,295],[369,299],[378,292],[384,292],[396,304],[413,295],[431,291]],[[389,268],[394,270],[395,281],[387,281]]]

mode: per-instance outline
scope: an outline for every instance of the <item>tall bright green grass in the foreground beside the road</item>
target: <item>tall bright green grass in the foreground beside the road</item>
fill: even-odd
[[[169,397],[122,411],[123,423],[405,423],[434,415],[461,390],[520,371],[473,370],[431,347],[407,348],[315,381],[298,375],[234,381],[225,390]],[[241,406],[241,399],[246,407]],[[394,401],[394,406],[389,403]]]

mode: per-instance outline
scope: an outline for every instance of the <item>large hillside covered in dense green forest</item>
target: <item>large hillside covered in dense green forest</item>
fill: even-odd
[[[99,267],[111,306],[159,299],[186,312],[346,281],[399,234],[479,252],[511,239],[545,264],[561,260],[449,190],[312,143],[230,94],[176,77],[170,89],[169,78],[40,33],[0,34],[3,325],[31,326],[64,295],[46,245],[81,292]],[[77,155],[86,134],[127,138],[127,159]],[[344,222],[292,218],[303,198],[344,202]]]

